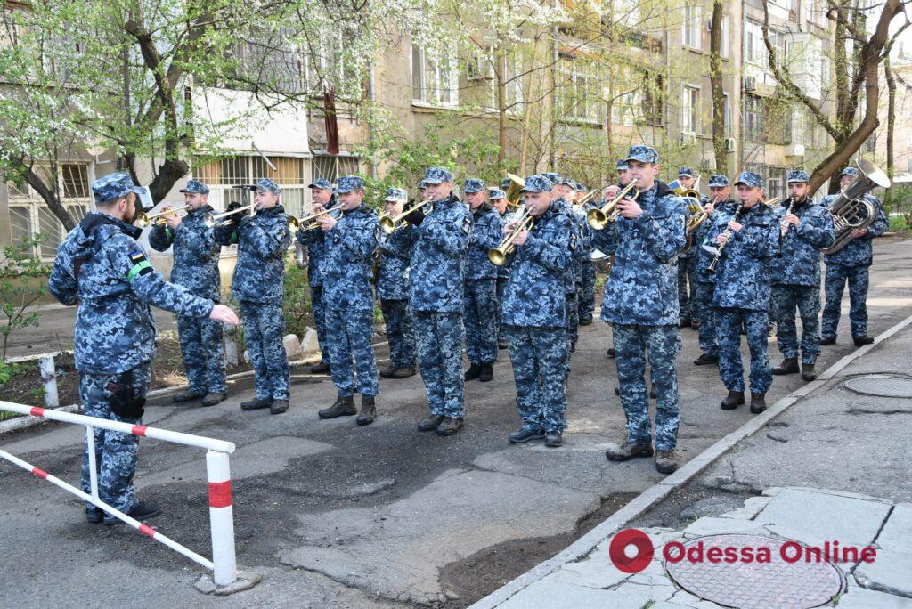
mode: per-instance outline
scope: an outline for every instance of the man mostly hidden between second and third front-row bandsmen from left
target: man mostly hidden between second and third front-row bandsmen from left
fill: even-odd
[[[313,198],[314,213],[323,212],[336,205],[333,185],[323,178],[318,178],[308,187]],[[307,248],[307,283],[310,285],[310,310],[316,325],[316,341],[320,346],[320,361],[310,366],[310,372],[322,375],[329,372],[329,346],[326,344],[326,304],[323,298],[323,260],[326,257],[324,232],[316,226],[307,230],[306,226],[298,228],[297,241]]]

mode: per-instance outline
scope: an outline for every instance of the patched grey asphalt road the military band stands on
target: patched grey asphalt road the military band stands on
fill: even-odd
[[[912,314],[912,241],[879,242],[868,299],[871,335]],[[839,342],[824,347],[819,367],[854,348],[847,323],[844,314]],[[505,352],[492,383],[467,385],[467,424],[449,439],[415,430],[427,408],[419,377],[382,380],[380,417],[368,428],[352,418],[318,420],[316,410],[332,402],[335,390],[327,377],[302,370],[293,371],[293,406],[281,417],[240,411],[249,383],[233,386],[231,398],[214,408],[150,406],[146,424],[238,445],[238,561],[264,573],[264,582],[228,599],[194,591],[200,570],[175,552],[125,527],[89,525],[77,501],[0,464],[0,581],[7,583],[0,606],[469,604],[661,478],[648,459],[606,461],[606,446],[624,439],[615,366],[605,357],[610,330],[601,322],[581,330],[561,449],[507,443],[518,419]],[[720,410],[725,391],[717,371],[692,366],[697,336],[686,329],[683,338],[678,454],[690,459],[751,414]],[[774,339],[770,349],[778,363]],[[800,385],[795,376],[775,377],[768,399]],[[0,445],[78,480],[81,438],[81,429],[44,427]],[[150,523],[207,553],[203,463],[202,451],[143,440],[137,481],[141,498],[167,510]]]

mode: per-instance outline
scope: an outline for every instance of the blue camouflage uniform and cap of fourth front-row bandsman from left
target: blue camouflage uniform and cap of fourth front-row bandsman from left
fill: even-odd
[[[451,181],[431,168],[426,180]],[[410,248],[409,307],[414,314],[421,380],[435,416],[465,418],[462,378],[461,258],[472,232],[472,214],[456,197],[435,201],[419,226],[393,232],[389,245]]]

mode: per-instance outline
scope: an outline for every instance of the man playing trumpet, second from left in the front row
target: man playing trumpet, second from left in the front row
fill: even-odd
[[[282,189],[264,178],[255,186],[256,212],[235,213],[214,230],[216,243],[237,243],[231,289],[241,303],[244,342],[254,365],[256,397],[241,403],[245,411],[269,408],[280,415],[288,409],[288,358],[282,337],[285,315],[285,253],[291,245],[288,216],[282,207]]]

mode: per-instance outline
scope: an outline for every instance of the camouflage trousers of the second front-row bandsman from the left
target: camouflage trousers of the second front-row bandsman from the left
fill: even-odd
[[[241,303],[244,321],[244,342],[250,362],[254,365],[254,390],[262,399],[288,399],[288,356],[282,338],[285,317],[282,305]]]

